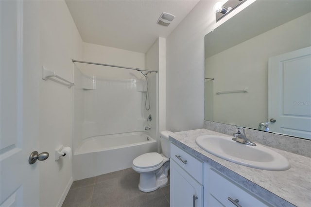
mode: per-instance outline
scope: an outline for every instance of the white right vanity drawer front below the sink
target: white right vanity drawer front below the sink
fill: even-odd
[[[210,169],[209,173],[209,195],[208,206],[214,204],[216,201],[224,205],[225,207],[235,207],[235,205],[229,201],[229,197],[232,201],[238,199],[237,202],[242,207],[269,207],[271,206],[263,199],[259,198],[252,192],[242,188],[225,175],[219,173],[214,169]]]

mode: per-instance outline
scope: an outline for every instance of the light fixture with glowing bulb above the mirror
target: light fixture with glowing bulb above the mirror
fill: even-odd
[[[227,0],[225,3],[218,1],[214,5],[214,11],[216,13],[216,22],[219,21],[221,18],[225,17],[230,11],[237,8],[246,0]]]

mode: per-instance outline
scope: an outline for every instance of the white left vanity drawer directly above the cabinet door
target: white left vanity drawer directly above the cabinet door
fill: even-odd
[[[171,159],[199,183],[203,183],[203,162],[171,143]]]

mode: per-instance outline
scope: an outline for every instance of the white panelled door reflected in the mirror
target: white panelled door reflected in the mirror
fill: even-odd
[[[269,58],[270,131],[311,139],[311,47]]]

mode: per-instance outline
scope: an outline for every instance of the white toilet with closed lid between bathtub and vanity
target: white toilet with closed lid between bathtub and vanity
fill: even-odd
[[[140,173],[138,189],[151,192],[168,183],[170,170],[170,131],[160,132],[162,154],[145,153],[133,160],[133,170]]]

